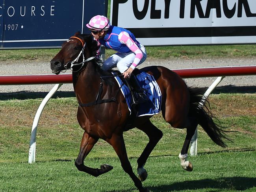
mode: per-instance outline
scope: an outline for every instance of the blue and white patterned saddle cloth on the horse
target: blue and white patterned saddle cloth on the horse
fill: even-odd
[[[112,73],[115,74],[114,72]],[[138,104],[137,116],[158,114],[161,111],[161,90],[156,83],[155,78],[143,71],[137,74],[136,78],[139,82],[139,85],[146,90],[145,93],[149,98],[149,101]],[[130,89],[121,81],[118,76],[115,76],[115,79],[117,80],[119,87],[121,87],[121,92],[126,99],[126,103],[131,114],[133,99]]]

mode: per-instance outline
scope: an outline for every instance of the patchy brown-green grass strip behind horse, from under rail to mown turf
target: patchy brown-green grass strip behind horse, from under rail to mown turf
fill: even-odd
[[[256,94],[211,95],[213,113],[217,114],[224,126],[233,125],[229,130],[238,132],[228,134],[234,142],[228,142],[228,148],[223,149],[199,128],[198,152],[255,149],[255,100]],[[41,101],[41,98],[0,101],[0,162],[27,161],[32,122]],[[83,134],[76,120],[77,106],[76,98],[56,98],[47,103],[37,131],[37,161],[76,159]],[[161,114],[153,116],[151,120],[164,134],[151,155],[177,155],[182,148],[186,129],[172,128]],[[124,139],[129,157],[138,157],[148,142],[145,133],[138,129],[125,132]],[[88,157],[117,156],[109,144],[99,140]]]

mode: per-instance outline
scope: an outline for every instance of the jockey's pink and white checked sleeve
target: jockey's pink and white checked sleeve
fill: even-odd
[[[141,49],[137,46],[137,44],[134,42],[134,40],[130,37],[130,35],[126,32],[126,31],[122,31],[119,35],[118,35],[118,40],[123,43],[126,44],[126,46],[135,53],[135,59],[132,63],[132,65],[130,66],[132,69],[135,69],[135,67],[139,64],[139,62],[141,61],[143,54]]]

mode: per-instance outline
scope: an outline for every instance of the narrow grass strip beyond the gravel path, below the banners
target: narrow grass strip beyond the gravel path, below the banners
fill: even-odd
[[[148,46],[148,58],[211,58],[255,57],[256,45],[198,45],[198,46]],[[0,61],[50,61],[59,49],[1,50]],[[114,54],[106,50],[106,58]]]

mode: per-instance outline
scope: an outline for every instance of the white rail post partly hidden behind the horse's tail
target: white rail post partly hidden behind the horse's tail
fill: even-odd
[[[204,104],[204,102],[203,102],[204,99],[208,98],[208,96],[215,89],[215,87],[217,87],[217,85],[219,85],[219,83],[222,81],[222,79],[224,79],[224,77],[218,77],[217,79],[215,79],[215,81],[211,84],[211,86],[206,90],[206,92],[204,93],[204,96],[202,98],[202,101],[199,103],[200,107],[202,107],[202,105]],[[191,138],[190,155],[192,155],[192,156],[197,155],[197,128],[195,130],[195,134]]]

